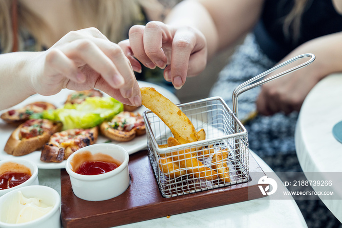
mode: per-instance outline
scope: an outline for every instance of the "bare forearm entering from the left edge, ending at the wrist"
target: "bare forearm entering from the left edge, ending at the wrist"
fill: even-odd
[[[9,108],[34,94],[30,68],[37,52],[0,54],[0,110]]]

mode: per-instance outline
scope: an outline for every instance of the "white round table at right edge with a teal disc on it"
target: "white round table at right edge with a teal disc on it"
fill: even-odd
[[[342,143],[332,133],[342,121],[342,73],[321,80],[307,95],[296,126],[296,151],[308,180],[331,181],[322,202],[342,222]],[[318,191],[318,186],[312,186]]]

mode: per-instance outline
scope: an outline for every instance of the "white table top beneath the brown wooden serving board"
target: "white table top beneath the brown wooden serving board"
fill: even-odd
[[[251,154],[264,172],[273,172],[255,153],[251,152]],[[61,193],[59,169],[40,169],[38,177],[41,185],[50,186]],[[283,200],[277,199],[273,195],[269,195],[266,198],[196,210],[172,215],[170,218],[162,217],[120,227],[142,228],[161,226],[164,228],[307,228],[299,207],[293,198],[291,200]]]

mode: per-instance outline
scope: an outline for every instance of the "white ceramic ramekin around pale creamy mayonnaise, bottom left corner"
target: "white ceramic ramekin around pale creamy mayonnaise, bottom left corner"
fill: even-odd
[[[12,224],[6,223],[6,212],[12,202],[13,197],[16,197],[18,191],[26,198],[35,197],[40,199],[42,203],[52,206],[52,209],[40,218],[35,220]],[[0,227],[1,228],[61,228],[61,197],[58,192],[50,187],[42,185],[31,185],[17,188],[0,197]]]

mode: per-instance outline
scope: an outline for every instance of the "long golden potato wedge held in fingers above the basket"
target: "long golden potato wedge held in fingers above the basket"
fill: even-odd
[[[168,126],[181,144],[198,141],[197,132],[190,119],[168,98],[154,88],[140,88],[142,104]]]

